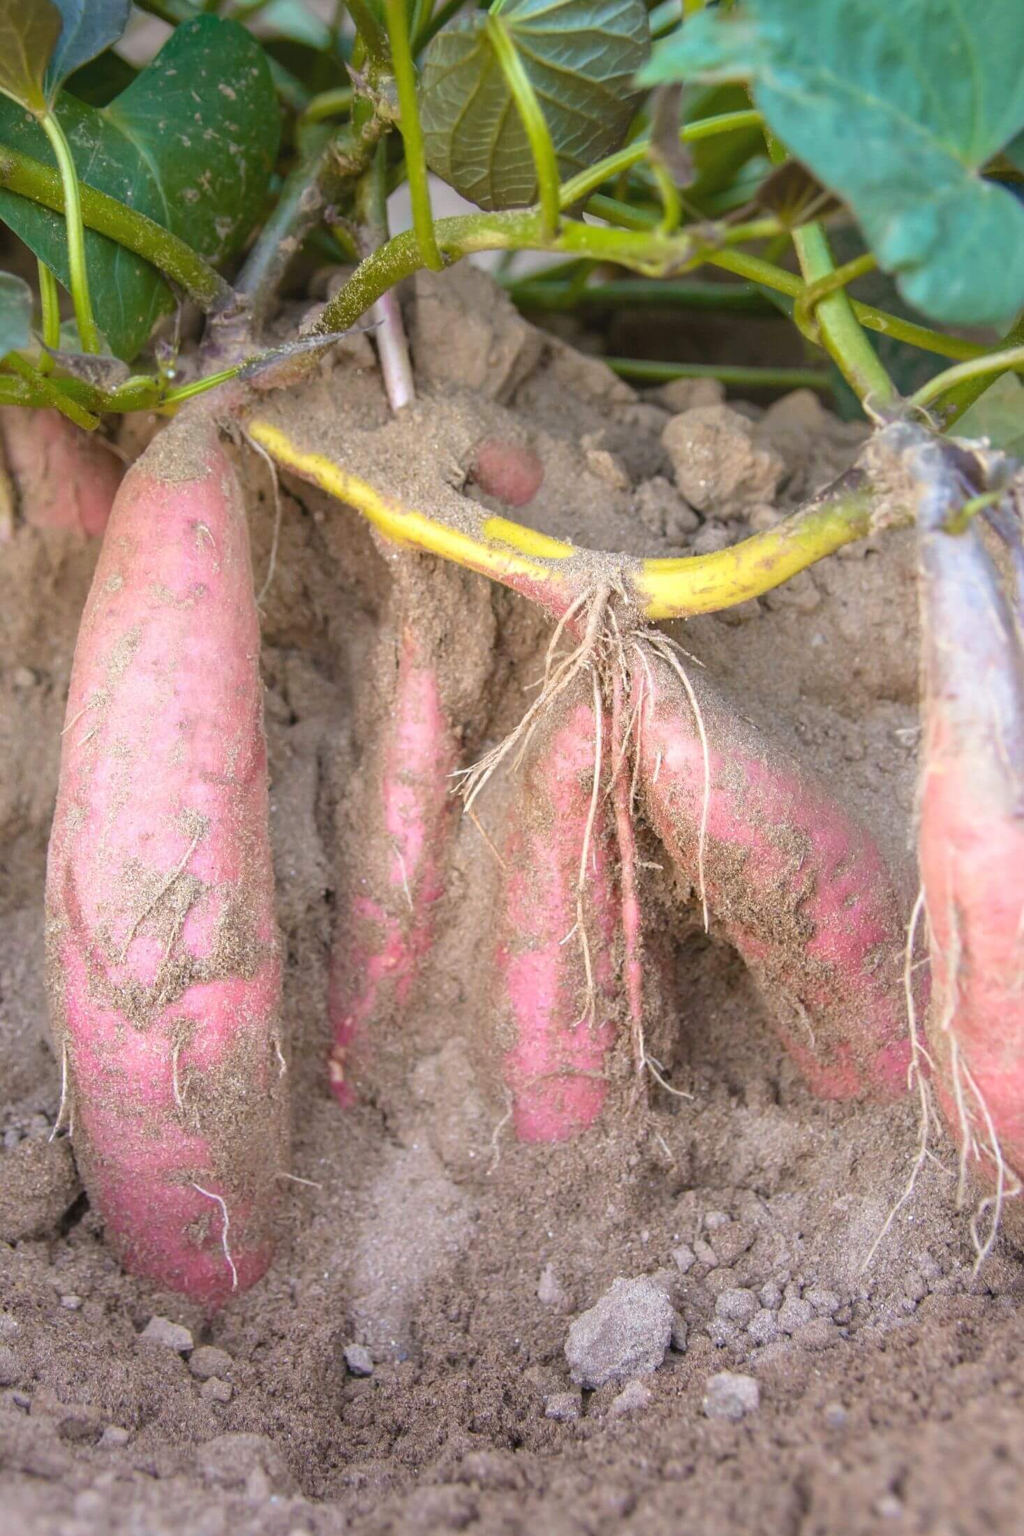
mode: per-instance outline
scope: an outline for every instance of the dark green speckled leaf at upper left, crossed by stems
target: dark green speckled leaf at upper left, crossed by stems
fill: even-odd
[[[147,214],[207,261],[236,250],[259,217],[279,115],[263,51],[235,22],[186,22],[107,108],[64,92],[57,117],[83,183]],[[52,163],[38,124],[6,101],[2,143]],[[69,286],[60,215],[0,190],[0,220]],[[92,230],[86,258],[97,324],[130,361],[173,295],[147,261]]]

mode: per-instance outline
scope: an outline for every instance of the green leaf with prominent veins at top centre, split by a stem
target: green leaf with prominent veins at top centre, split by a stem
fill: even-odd
[[[507,0],[500,18],[543,111],[562,177],[613,154],[637,106],[646,58],[642,0]],[[530,140],[474,12],[428,45],[419,88],[427,163],[479,207],[520,207],[537,195]]]

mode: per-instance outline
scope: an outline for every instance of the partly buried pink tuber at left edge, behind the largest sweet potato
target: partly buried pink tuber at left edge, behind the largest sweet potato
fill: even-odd
[[[103,533],[124,467],[58,410],[0,410],[0,435],[25,521],[35,528]]]

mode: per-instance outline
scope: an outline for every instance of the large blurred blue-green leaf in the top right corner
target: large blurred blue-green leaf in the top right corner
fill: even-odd
[[[689,17],[640,78],[749,78],[924,313],[999,324],[1024,303],[1024,207],[979,175],[1024,126],[1019,0],[748,0]]]

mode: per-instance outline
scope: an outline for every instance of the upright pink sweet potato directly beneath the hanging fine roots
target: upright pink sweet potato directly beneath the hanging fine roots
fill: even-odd
[[[596,1015],[580,1021],[585,971],[576,925],[576,885],[594,771],[594,711],[577,703],[540,746],[505,842],[504,911],[496,969],[516,1044],[505,1083],[520,1141],[567,1141],[600,1114],[608,1094],[605,1055],[616,1037],[613,945],[617,903],[603,803],[591,839],[586,931]]]

